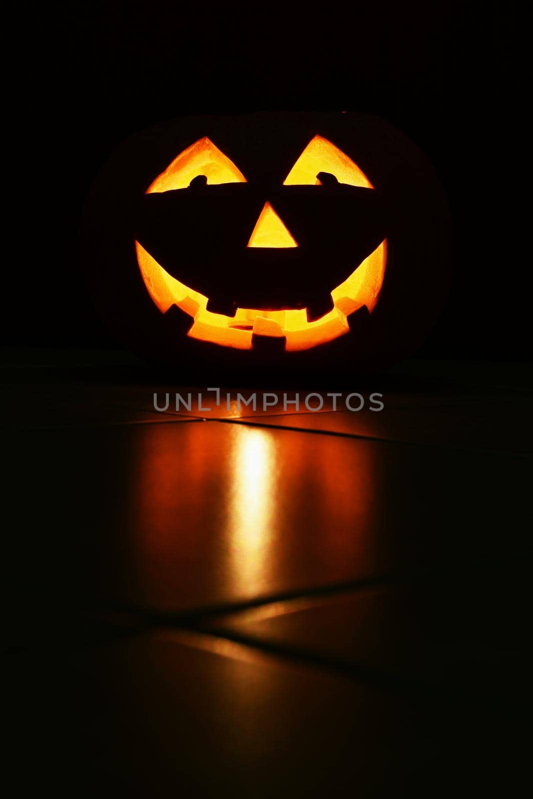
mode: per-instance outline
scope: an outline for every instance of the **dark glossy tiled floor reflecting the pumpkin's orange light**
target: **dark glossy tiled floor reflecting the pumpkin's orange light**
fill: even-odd
[[[525,368],[177,414],[119,354],[3,363],[13,795],[521,795]]]

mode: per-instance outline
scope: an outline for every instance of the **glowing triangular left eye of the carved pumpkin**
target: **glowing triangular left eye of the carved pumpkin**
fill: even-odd
[[[175,157],[146,189],[146,194],[186,189],[198,175],[205,175],[208,185],[246,183],[245,176],[233,161],[205,136]]]

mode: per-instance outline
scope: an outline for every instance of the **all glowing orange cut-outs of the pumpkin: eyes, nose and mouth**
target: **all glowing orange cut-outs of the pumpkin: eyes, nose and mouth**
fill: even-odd
[[[340,183],[372,189],[360,168],[331,141],[314,137],[284,180],[284,185],[317,185],[316,175],[328,172]],[[149,186],[146,193],[185,189],[197,175],[205,175],[208,185],[246,182],[244,175],[228,157],[204,137],[183,150]],[[320,189],[317,189],[320,191]],[[162,313],[177,305],[189,314],[193,324],[188,336],[225,347],[251,349],[252,336],[284,336],[288,352],[325,344],[349,331],[347,316],[366,305],[375,308],[384,280],[387,241],[384,240],[351,275],[331,292],[334,308],[319,320],[308,322],[305,308],[265,311],[237,308],[235,316],[207,310],[208,298],[169,275],[138,243],[137,261],[153,302]],[[296,240],[269,202],[265,203],[250,236],[249,247],[297,247]]]

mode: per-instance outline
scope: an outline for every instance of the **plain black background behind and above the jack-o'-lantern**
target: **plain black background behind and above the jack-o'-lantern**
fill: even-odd
[[[420,354],[527,356],[512,6],[93,2],[27,13],[12,42],[28,79],[14,87],[22,233],[4,263],[14,281],[4,343],[116,345],[87,296],[78,229],[93,177],[129,134],[181,113],[348,109],[416,141],[450,203],[454,285]]]

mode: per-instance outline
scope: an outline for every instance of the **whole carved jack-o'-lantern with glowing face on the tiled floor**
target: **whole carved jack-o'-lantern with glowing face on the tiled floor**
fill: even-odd
[[[156,360],[380,365],[420,339],[447,284],[431,166],[358,114],[141,134],[105,168],[88,218],[95,293]]]

